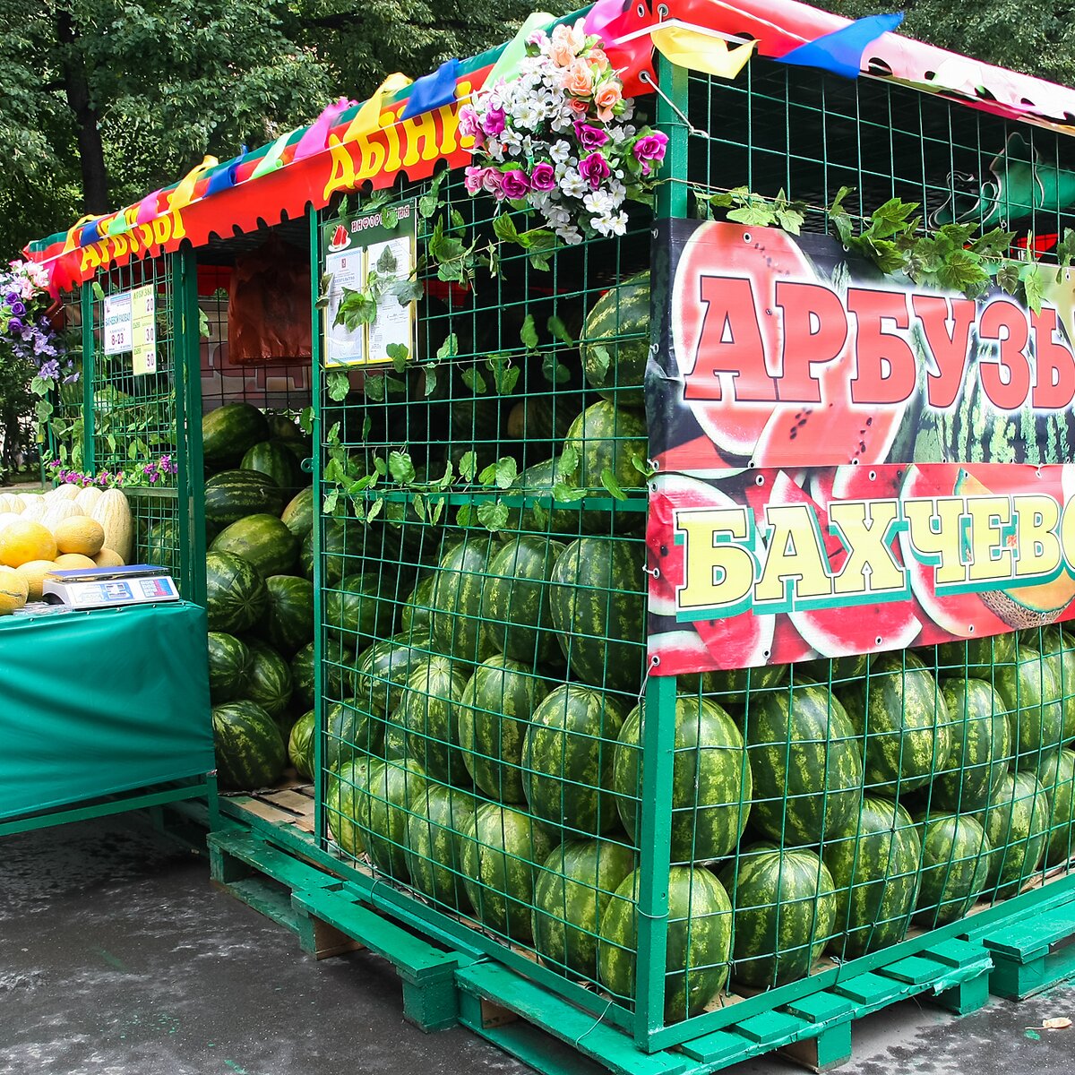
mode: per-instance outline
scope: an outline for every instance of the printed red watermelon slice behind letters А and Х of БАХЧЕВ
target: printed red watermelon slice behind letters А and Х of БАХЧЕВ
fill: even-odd
[[[847,549],[829,531],[825,508],[801,489],[783,471],[773,482],[771,504],[805,504],[816,513],[818,529],[825,542],[829,573],[836,575],[847,561]],[[904,649],[919,635],[921,620],[915,615],[914,602],[877,601],[848,607],[793,608],[788,614],[803,641],[821,657],[847,657],[885,649]]]

